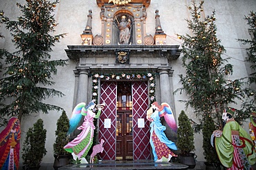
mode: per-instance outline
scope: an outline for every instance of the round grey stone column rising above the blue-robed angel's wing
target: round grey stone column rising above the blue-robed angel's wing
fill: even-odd
[[[160,96],[161,96],[161,102],[158,102],[159,104],[165,102],[170,105],[171,103],[172,92],[170,92],[169,70],[170,70],[170,67],[158,68],[159,75],[160,75]]]

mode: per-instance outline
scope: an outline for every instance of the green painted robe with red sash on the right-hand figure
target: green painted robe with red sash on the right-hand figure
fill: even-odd
[[[214,146],[219,160],[228,169],[252,169],[256,156],[250,135],[233,118],[223,127],[222,135],[215,138]]]

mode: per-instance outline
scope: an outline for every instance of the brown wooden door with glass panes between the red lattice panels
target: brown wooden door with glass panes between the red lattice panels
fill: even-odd
[[[131,82],[117,83],[116,160],[133,159]]]

